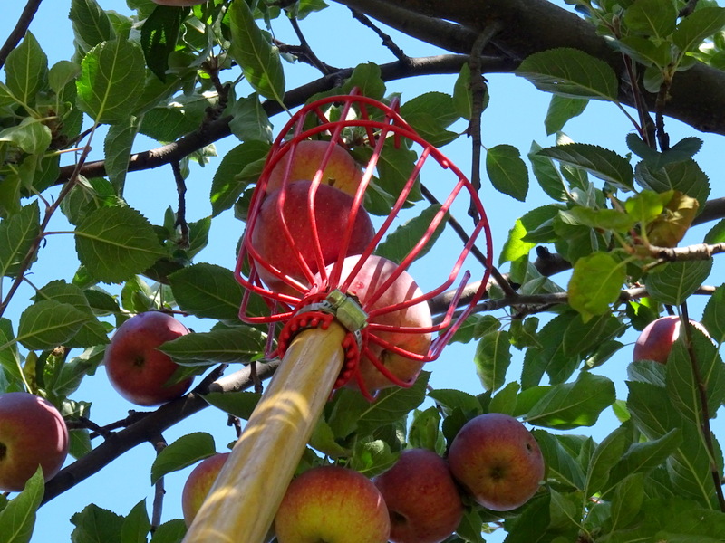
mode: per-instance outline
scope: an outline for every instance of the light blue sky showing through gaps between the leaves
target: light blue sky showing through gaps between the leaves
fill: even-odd
[[[104,9],[115,9],[120,13],[129,12],[125,2],[120,0],[99,0]],[[0,39],[10,32],[12,25],[17,19],[23,4],[21,2],[6,2],[4,5],[4,17],[0,20]],[[72,29],[67,20],[69,9],[67,2],[44,2],[36,15],[31,31],[41,43],[43,50],[48,54],[51,65],[54,62],[71,58]],[[353,21],[346,8],[333,5],[328,13],[311,16],[301,23],[303,32],[311,43],[315,52],[324,61],[334,66],[352,66],[359,62],[390,62],[394,60],[389,51],[380,44],[379,39],[370,30],[363,28]],[[296,43],[289,24],[279,20],[274,23],[277,37],[288,43]],[[430,45],[413,42],[391,31],[397,43],[411,56],[423,56],[436,54],[439,51]],[[285,66],[288,88],[295,87],[305,81],[318,77],[317,72],[307,67]],[[402,100],[409,100],[418,94],[429,90],[441,90],[450,92],[452,90],[453,76],[430,76],[411,81],[394,81],[388,85],[388,91],[400,91]],[[544,129],[544,118],[549,97],[536,91],[527,81],[516,78],[513,75],[490,75],[488,76],[490,88],[490,104],[483,118],[483,142],[486,147],[493,147],[498,144],[513,145],[526,154],[532,140],[546,147],[554,144],[553,137],[547,137]],[[285,118],[273,119],[275,128],[281,127]],[[462,130],[462,124],[456,125],[456,129]],[[668,120],[668,128],[671,129],[672,141],[677,141],[684,136],[701,136],[680,123]],[[571,121],[566,127],[567,134],[579,141],[594,143],[606,148],[611,148],[621,154],[627,152],[624,136],[631,131],[631,126],[623,114],[612,105],[593,102],[585,110],[585,113],[578,119]],[[719,138],[704,136],[705,145],[701,153],[696,157],[701,167],[710,176],[713,186],[719,186],[721,157]],[[220,157],[227,150],[237,145],[237,140],[227,138],[218,142],[219,158],[212,159],[211,163],[204,168],[193,164],[191,174],[187,180],[189,203],[189,220],[198,220],[211,213],[208,203],[208,187],[211,176],[218,167]],[[102,140],[95,142],[91,159],[102,157]],[[140,151],[156,147],[154,142],[140,138],[134,150]],[[444,148],[449,157],[461,168],[468,172],[470,168],[470,143],[467,138],[459,138],[453,144]],[[164,210],[168,205],[176,203],[176,187],[170,167],[160,167],[154,170],[134,173],[127,179],[126,197],[133,207],[136,207],[146,215],[151,223],[160,224],[163,220]],[[713,191],[714,192],[714,191]],[[536,205],[543,205],[546,199],[536,186],[531,176],[531,189],[527,204],[522,204],[513,199],[499,195],[495,192],[484,178],[484,189],[482,199],[489,214],[494,235],[494,251],[498,255],[500,247],[507,237],[508,229],[513,225],[514,219],[524,214]],[[536,202],[540,202],[537,204]],[[711,224],[693,229],[690,241],[697,243],[701,241],[704,233],[709,230]],[[51,225],[51,230],[66,230],[67,227],[60,221]],[[215,219],[208,249],[201,252],[198,262],[213,262],[227,268],[233,268],[235,262],[234,249],[237,243],[238,234],[242,231],[242,224],[236,221],[231,212],[222,214]],[[33,269],[34,284],[42,286],[47,281],[57,278],[59,274],[70,281],[76,268],[76,261],[73,259],[73,239],[68,235],[51,236],[47,247],[40,254],[39,262]],[[716,259],[717,261],[717,259]],[[720,270],[722,265],[719,265]],[[506,271],[506,269],[504,269]],[[435,273],[433,270],[431,273]],[[719,277],[723,277],[720,272]],[[556,278],[560,284],[565,284],[563,277]],[[421,278],[420,282],[427,281]],[[8,317],[16,319],[32,295],[29,287],[25,286],[19,291],[14,303],[11,305]],[[700,301],[700,300],[698,300]],[[693,303],[691,314],[695,318],[701,315],[701,304]],[[698,307],[699,306],[699,307]],[[208,323],[194,323],[193,328],[199,331],[208,326]],[[623,341],[633,341],[634,337],[629,334]],[[436,388],[459,388],[478,394],[482,391],[478,384],[478,377],[475,375],[471,359],[474,346],[449,346],[440,359],[430,363],[427,369],[432,371],[431,386]],[[623,380],[625,378],[626,365],[629,362],[630,348],[624,348],[614,359],[610,360],[604,367],[598,370],[599,373],[609,376],[617,384],[618,397],[624,397]],[[515,362],[509,369],[508,378],[517,379],[520,371],[520,356],[515,352]],[[108,385],[103,370],[96,376],[85,380],[82,388],[75,395],[77,399],[92,401],[92,419],[98,424],[108,424],[125,416],[129,409],[134,406],[122,400]],[[604,420],[614,424],[614,417],[607,412],[603,415]],[[602,431],[610,431],[612,426]],[[721,423],[720,423],[721,424]],[[586,429],[583,429],[586,430]],[[233,432],[227,427],[225,414],[207,409],[201,414],[192,416],[178,426],[165,433],[167,441],[173,442],[180,435],[194,431],[205,431],[215,435],[218,450],[223,450],[226,444],[234,438]],[[588,432],[582,432],[588,433]],[[594,434],[595,439],[601,439],[601,435]],[[83,481],[71,491],[65,492],[61,497],[51,501],[39,511],[36,532],[33,541],[65,541],[70,540],[70,533],[73,526],[68,519],[70,516],[81,510],[89,502],[94,502],[100,507],[113,510],[119,514],[127,514],[129,510],[139,501],[147,498],[147,503],[152,500],[152,488],[150,487],[150,464],[154,458],[154,452],[150,445],[141,445],[121,456],[120,459],[111,463],[102,472],[94,475],[87,481]],[[180,500],[179,496],[186,474],[189,470],[170,475],[166,479],[167,498],[165,501],[164,520],[179,518]],[[489,541],[497,541],[491,537]]]

